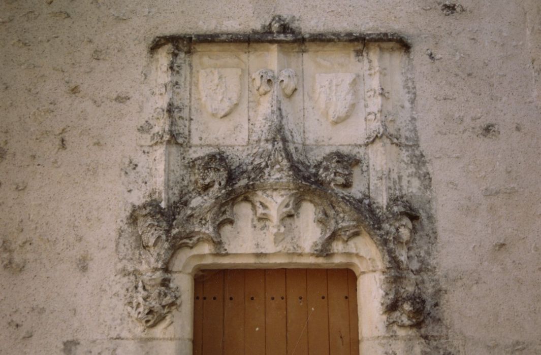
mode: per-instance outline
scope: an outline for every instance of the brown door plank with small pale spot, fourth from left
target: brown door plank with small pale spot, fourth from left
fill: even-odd
[[[265,270],[245,270],[245,355],[265,354]]]

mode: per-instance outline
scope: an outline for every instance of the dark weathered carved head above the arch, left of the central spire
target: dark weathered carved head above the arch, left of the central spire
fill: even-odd
[[[190,164],[192,182],[199,192],[225,186],[229,175],[226,158],[221,153],[210,153]]]

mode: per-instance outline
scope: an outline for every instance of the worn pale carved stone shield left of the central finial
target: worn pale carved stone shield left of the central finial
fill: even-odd
[[[239,103],[239,68],[210,68],[199,71],[199,93],[204,107],[216,118],[226,117]]]

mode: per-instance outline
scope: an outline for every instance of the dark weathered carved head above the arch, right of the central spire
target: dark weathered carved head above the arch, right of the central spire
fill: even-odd
[[[332,152],[323,158],[319,168],[319,179],[324,185],[351,187],[353,185],[353,166],[359,161],[341,152]]]

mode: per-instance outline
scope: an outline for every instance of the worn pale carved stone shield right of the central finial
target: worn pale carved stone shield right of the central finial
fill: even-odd
[[[355,73],[316,74],[316,103],[331,123],[344,122],[353,112],[356,84]]]

